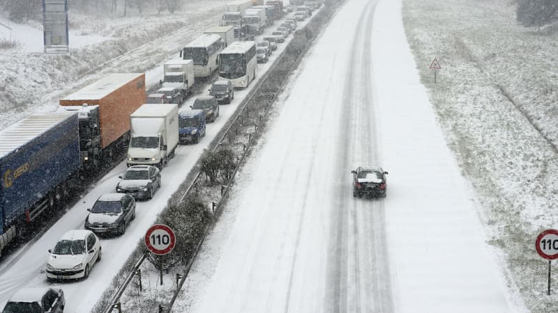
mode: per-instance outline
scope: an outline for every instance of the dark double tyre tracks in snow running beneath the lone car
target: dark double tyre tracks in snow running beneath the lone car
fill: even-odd
[[[338,147],[345,145],[338,161],[339,182],[350,183],[348,168],[354,162],[378,164],[375,144],[375,113],[372,99],[371,36],[376,1],[370,1],[359,17],[353,53],[347,64],[352,72],[346,78],[343,99],[347,106],[342,120]],[[340,172],[339,172],[340,171]],[[344,185],[347,186],[347,185]],[[332,312],[392,312],[389,264],[386,259],[384,204],[382,200],[352,199],[351,188],[341,188],[336,221],[331,230],[331,254],[326,307]],[[333,286],[332,286],[333,285]]]

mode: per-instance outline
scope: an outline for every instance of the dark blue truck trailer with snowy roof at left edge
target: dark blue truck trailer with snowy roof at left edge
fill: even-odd
[[[77,184],[76,113],[29,115],[0,131],[0,251]]]

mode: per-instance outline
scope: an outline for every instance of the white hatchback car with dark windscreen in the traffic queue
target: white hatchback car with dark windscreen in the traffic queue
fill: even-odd
[[[69,230],[48,252],[47,279],[87,278],[100,261],[101,246],[91,230]]]

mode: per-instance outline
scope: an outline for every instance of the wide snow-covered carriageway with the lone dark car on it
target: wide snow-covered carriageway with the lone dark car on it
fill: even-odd
[[[318,38],[180,310],[522,311],[418,79],[400,6],[348,0]],[[387,198],[352,197],[361,165],[390,172]]]

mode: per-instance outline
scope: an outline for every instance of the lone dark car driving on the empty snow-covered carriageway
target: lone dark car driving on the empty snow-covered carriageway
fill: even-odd
[[[385,172],[378,166],[359,166],[352,170],[353,197],[384,198],[387,194]]]

